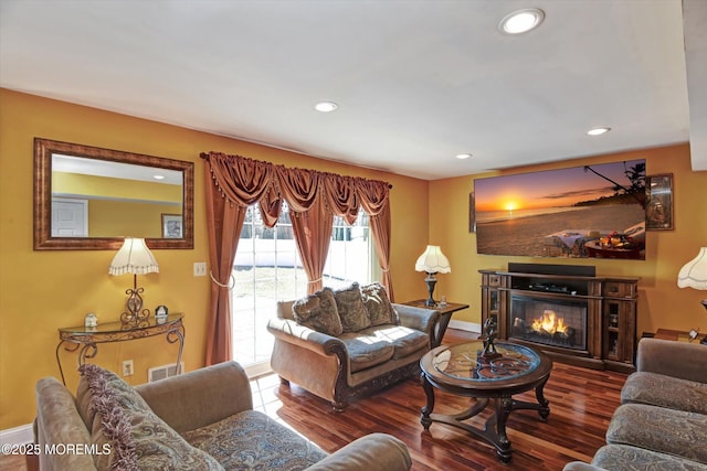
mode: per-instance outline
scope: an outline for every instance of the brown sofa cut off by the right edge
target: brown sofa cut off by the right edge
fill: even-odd
[[[564,471],[707,470],[707,346],[641,339],[606,446]]]

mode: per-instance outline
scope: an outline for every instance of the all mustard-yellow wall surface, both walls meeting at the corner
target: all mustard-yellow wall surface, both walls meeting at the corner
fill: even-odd
[[[707,245],[707,172],[690,171],[686,144],[503,172],[645,158],[648,173],[673,173],[675,231],[647,233],[645,261],[619,261],[476,255],[475,235],[468,233],[468,193],[474,175],[426,182],[6,89],[0,90],[0,429],[31,422],[34,384],[43,376],[59,376],[56,329],[81,324],[88,311],[96,312],[99,321],[117,319],[125,303],[124,291],[131,283],[128,276],[107,275],[114,251],[32,250],[34,137],[196,162],[194,249],[155,250],[160,272],[139,277],[147,307],[163,303],[172,312],[187,314],[187,370],[200,367],[204,361],[209,279],[194,278],[192,265],[208,260],[204,173],[199,153],[210,150],[392,183],[391,272],[398,301],[426,296],[423,277],[413,265],[426,244],[435,244],[442,246],[453,270],[439,276],[435,296],[471,304],[455,314],[455,320],[479,322],[479,268],[506,268],[508,261],[516,260],[581,263],[597,265],[600,275],[641,277],[639,333],[698,325],[707,330],[707,315],[698,306],[705,292],[680,290],[675,283],[679,267]],[[139,384],[146,381],[148,367],[171,363],[175,355],[173,345],[155,338],[101,345],[95,361],[118,371],[123,360],[133,358],[137,374],[129,379]],[[65,368],[71,370],[75,355],[62,357]],[[76,383],[75,373],[70,374],[70,388],[75,389]]]

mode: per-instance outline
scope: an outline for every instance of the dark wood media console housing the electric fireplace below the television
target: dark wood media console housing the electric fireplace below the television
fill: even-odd
[[[479,270],[482,323],[498,339],[562,363],[635,371],[637,278],[597,277],[594,267],[509,264]]]

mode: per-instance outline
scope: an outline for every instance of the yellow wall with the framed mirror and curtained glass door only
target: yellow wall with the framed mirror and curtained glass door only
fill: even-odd
[[[117,320],[129,276],[108,276],[110,250],[33,251],[32,149],[34,137],[194,162],[194,248],[155,250],[159,274],[138,277],[146,307],[167,304],[186,313],[187,370],[203,365],[209,278],[194,278],[193,263],[208,260],[204,165],[200,152],[215,150],[309,168],[384,180],[393,185],[392,266],[398,299],[424,295],[413,269],[428,243],[428,182],[361,169],[98,109],[0,90],[0,430],[30,424],[35,415],[34,384],[59,376],[56,329],[83,323],[93,311],[99,321]],[[422,291],[422,292],[421,292]],[[65,370],[75,354],[62,353]],[[119,371],[135,361],[133,384],[147,381],[151,366],[172,363],[176,347],[161,338],[99,345],[97,364]],[[75,373],[67,385],[75,390]]]

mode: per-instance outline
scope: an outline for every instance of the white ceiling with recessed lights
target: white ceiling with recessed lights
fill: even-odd
[[[685,44],[680,0],[0,0],[2,87],[428,180],[688,140],[707,170]]]

